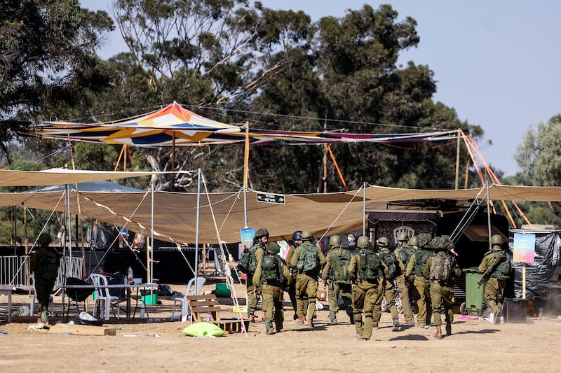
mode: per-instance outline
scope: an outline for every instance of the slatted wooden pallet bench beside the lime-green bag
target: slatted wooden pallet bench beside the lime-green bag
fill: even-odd
[[[245,331],[248,330],[250,321],[238,319],[220,319],[219,312],[222,311],[222,307],[218,302],[218,298],[215,294],[203,294],[203,295],[188,295],[187,304],[189,304],[189,309],[191,309],[191,315],[193,316],[193,321],[200,323],[201,321],[206,321],[201,314],[209,314],[212,320],[209,323],[215,323],[218,327],[224,330],[225,334],[241,332],[242,328],[245,327]]]

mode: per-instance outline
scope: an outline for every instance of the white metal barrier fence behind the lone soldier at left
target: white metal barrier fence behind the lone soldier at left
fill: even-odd
[[[0,256],[0,283],[11,283],[12,285],[28,285],[25,268],[29,256],[6,255]],[[83,259],[76,257],[65,257],[65,262],[60,262],[55,285],[62,285],[65,277],[82,278]],[[66,269],[66,271],[65,271]],[[66,272],[66,274],[65,274]]]

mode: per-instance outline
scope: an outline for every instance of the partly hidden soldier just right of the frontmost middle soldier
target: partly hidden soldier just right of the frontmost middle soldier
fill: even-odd
[[[396,259],[396,254],[394,254],[389,249],[389,241],[386,237],[380,237],[376,241],[376,246],[378,246],[378,256],[381,261],[388,267],[388,276],[386,276],[386,286],[383,290],[383,297],[386,299],[386,307],[390,310],[391,318],[393,321],[393,332],[398,332],[401,330],[399,323],[398,307],[396,307],[396,286],[393,284],[393,280],[396,279],[398,274],[401,274],[400,267],[398,265],[398,260]],[[378,327],[378,323],[381,318],[381,310],[374,313],[373,328]]]

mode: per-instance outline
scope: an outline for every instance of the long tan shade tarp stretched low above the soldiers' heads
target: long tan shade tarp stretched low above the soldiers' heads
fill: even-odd
[[[560,187],[520,187],[492,185],[491,199],[515,201],[560,201]],[[408,190],[370,186],[366,188],[366,209],[379,209],[378,202],[419,199],[473,200],[482,198],[481,189]],[[291,237],[295,230],[311,230],[316,237],[355,232],[363,228],[364,190],[327,194],[286,195],[284,204],[259,202],[261,192],[248,191],[247,215],[250,227],[266,227],[271,238]],[[150,235],[151,195],[148,192],[73,192],[71,213],[78,211],[76,197],[85,216],[104,220],[118,227]],[[0,193],[1,206],[25,206],[53,210],[62,192]],[[196,237],[195,193],[154,192],[154,237],[177,243],[194,243]],[[210,199],[210,204],[209,204]],[[58,211],[63,211],[59,204]],[[244,226],[243,193],[201,195],[199,242],[215,244],[218,239],[239,242]],[[215,221],[219,237],[215,230]]]

